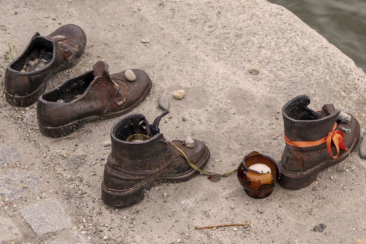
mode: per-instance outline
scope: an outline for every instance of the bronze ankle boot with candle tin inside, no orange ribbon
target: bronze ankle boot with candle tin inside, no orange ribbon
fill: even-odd
[[[176,147],[199,168],[207,164],[210,150],[203,142],[194,140],[194,147],[187,147],[185,141],[165,140],[158,127],[161,117],[167,113],[165,111],[150,125],[139,113],[126,116],[113,125],[112,151],[102,182],[102,200],[107,205],[131,206],[144,198],[144,189],[162,182],[187,181],[198,174]]]

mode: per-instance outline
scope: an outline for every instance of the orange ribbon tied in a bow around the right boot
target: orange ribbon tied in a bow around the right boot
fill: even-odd
[[[338,154],[339,154],[339,149],[345,149],[347,151],[348,151],[348,149],[346,148],[346,145],[344,144],[343,132],[340,131],[339,129],[334,131],[336,128],[337,128],[337,123],[334,124],[332,131],[330,131],[327,136],[325,136],[324,138],[317,140],[315,142],[294,142],[294,141],[288,139],[288,137],[286,135],[285,135],[285,142],[287,144],[289,144],[291,146],[295,146],[295,147],[313,147],[313,146],[318,146],[321,143],[326,142],[326,147],[328,149],[330,156],[332,156],[333,158],[337,158]],[[332,140],[337,149],[337,155],[335,155],[335,156],[332,155],[332,149],[330,148],[330,143],[332,143]],[[348,151],[348,154],[350,154],[349,151]]]

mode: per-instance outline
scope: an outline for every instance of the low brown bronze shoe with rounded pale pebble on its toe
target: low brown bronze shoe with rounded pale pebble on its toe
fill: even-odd
[[[41,95],[37,102],[41,133],[49,137],[64,136],[83,127],[85,122],[131,111],[152,87],[145,71],[134,69],[132,72],[134,81],[126,79],[125,71],[109,75],[108,64],[98,61],[93,70]]]

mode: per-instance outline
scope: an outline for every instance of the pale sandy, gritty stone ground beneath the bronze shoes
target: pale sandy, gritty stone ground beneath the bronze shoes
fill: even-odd
[[[74,68],[50,79],[48,89],[102,59],[111,74],[128,68],[145,70],[153,88],[131,113],[143,113],[152,121],[162,112],[158,97],[169,97],[173,117],[161,124],[161,131],[168,140],[193,135],[207,143],[211,150],[207,170],[236,168],[253,150],[280,160],[283,120],[276,116],[285,102],[300,94],[309,95],[315,110],[333,103],[351,112],[361,124],[362,136],[365,131],[365,73],[290,11],[264,0],[0,3],[1,56],[9,41],[22,51],[36,31],[48,35],[59,23],[81,26],[87,36],[85,54]],[[150,42],[142,44],[142,38]],[[255,65],[259,75],[248,72]],[[0,75],[3,82],[2,69]],[[110,128],[119,117],[89,123],[85,128],[91,132],[55,142],[39,132],[32,106],[25,110],[8,105],[4,86],[0,88],[0,146],[14,146],[19,152],[19,160],[1,165],[0,176],[16,169],[44,179],[12,200],[16,207],[1,199],[0,217],[10,219],[9,225],[14,223],[19,230],[13,240],[283,244],[353,243],[366,237],[366,163],[358,147],[351,157],[319,174],[317,191],[313,186],[298,191],[278,186],[268,198],[257,200],[244,193],[236,174],[218,183],[198,175],[186,183],[159,185],[146,192],[140,204],[117,210],[100,199],[100,184],[110,150],[103,142],[110,139]],[[174,100],[173,91],[179,89],[186,95]],[[15,118],[16,114],[23,116]],[[71,227],[37,236],[19,212],[48,198],[63,205]],[[195,229],[244,222],[250,226],[238,226],[236,231]],[[326,229],[313,232],[320,223]],[[10,242],[8,238],[1,243]]]

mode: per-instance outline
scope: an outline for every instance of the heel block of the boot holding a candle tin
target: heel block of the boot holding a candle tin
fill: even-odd
[[[117,192],[105,187],[102,183],[102,200],[112,207],[130,207],[145,197],[143,187],[128,192]]]

